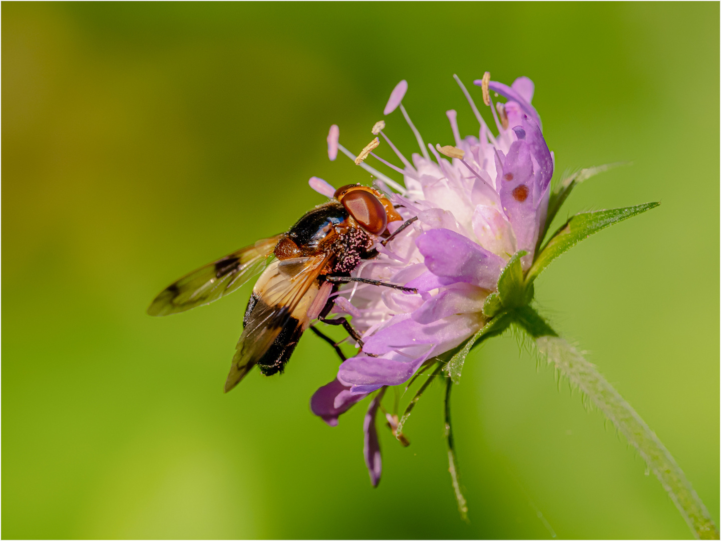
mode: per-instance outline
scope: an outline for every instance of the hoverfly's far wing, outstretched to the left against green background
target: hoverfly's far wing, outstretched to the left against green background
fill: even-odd
[[[171,283],[148,307],[149,315],[185,312],[232,293],[260,271],[282,235],[261,239]]]

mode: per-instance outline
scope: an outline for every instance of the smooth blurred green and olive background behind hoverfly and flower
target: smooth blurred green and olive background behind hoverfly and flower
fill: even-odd
[[[475,351],[454,392],[465,524],[440,385],[407,449],[379,422],[373,490],[366,403],[336,428],[309,411],[337,369],[326,344],[307,335],[286,374],[224,395],[250,286],[145,314],[174,278],[321,203],[311,175],[368,182],[328,161],[331,123],[358,151],[407,79],[415,124],[448,144],[447,109],[477,133],[452,74],[485,70],[534,79],[557,174],[633,162],[562,218],[663,202],[554,263],[538,304],[718,524],[718,21],[717,3],[4,2],[2,536],[690,537],[640,457],[514,335]],[[401,115],[386,121],[414,151]]]

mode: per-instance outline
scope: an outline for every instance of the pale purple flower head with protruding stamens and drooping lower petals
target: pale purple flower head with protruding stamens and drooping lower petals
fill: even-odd
[[[453,145],[426,146],[401,105],[408,88],[405,81],[394,88],[384,114],[400,108],[420,152],[408,159],[383,133],[384,123],[373,127],[402,162],[398,167],[381,160],[402,173],[403,184],[365,163],[361,167],[379,179],[379,188],[391,194],[404,220],[416,221],[387,245],[377,242],[379,255],[363,260],[352,275],[405,285],[417,293],[367,283],[340,289],[334,310],[352,316],[363,347],[342,362],[337,379],[311,400],[313,412],[335,426],[341,413],[381,390],[364,422],[364,456],[373,485],[381,475],[375,417],[382,393],[388,386],[408,382],[428,361],[457,348],[485,325],[484,303],[497,291],[500,273],[520,250],[527,253],[521,260],[523,269],[531,265],[545,224],[553,157],[531,105],[533,82],[521,77],[508,87],[487,76],[477,81],[485,85],[484,100],[491,105],[489,89],[508,98],[498,108],[501,118],[491,107],[497,135],[458,82],[479,121],[478,136],[461,138],[456,111],[449,110]],[[335,159],[337,149],[353,156],[338,144],[337,134],[334,125],[328,136],[329,157]],[[315,177],[311,186],[324,195],[332,190]],[[389,232],[400,224],[389,224]]]

